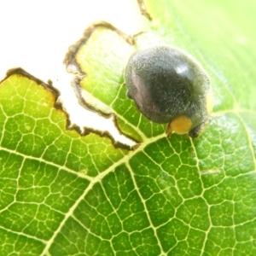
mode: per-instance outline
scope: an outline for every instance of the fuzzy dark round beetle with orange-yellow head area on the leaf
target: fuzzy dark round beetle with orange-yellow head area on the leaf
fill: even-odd
[[[198,137],[212,110],[210,79],[191,55],[168,45],[138,49],[125,67],[127,96],[166,134]]]

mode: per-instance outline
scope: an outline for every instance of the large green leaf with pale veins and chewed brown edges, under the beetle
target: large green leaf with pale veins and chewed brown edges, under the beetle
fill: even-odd
[[[67,130],[55,90],[22,74],[0,85],[1,255],[256,254],[255,3],[146,1],[135,46],[98,26],[76,56],[81,86],[116,114],[133,151]],[[192,141],[125,96],[131,51],[173,44],[212,80],[211,125]]]

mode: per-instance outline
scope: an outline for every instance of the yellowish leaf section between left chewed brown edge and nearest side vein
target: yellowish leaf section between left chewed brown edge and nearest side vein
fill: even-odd
[[[2,147],[73,172],[95,176],[124,156],[108,138],[67,131],[67,116],[54,108],[54,95],[32,80],[13,75],[0,88]],[[100,154],[99,152],[105,152]],[[95,160],[95,158],[97,160]],[[93,166],[93,168],[90,168]],[[92,171],[94,170],[94,171]]]

